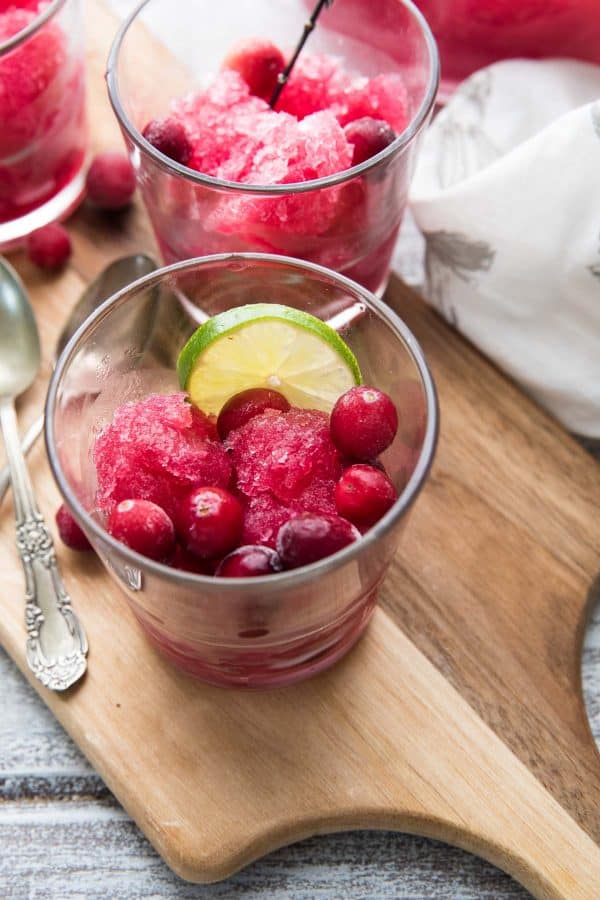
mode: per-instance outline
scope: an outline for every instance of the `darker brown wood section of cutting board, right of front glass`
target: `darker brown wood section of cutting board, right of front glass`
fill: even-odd
[[[580,659],[600,570],[600,469],[514,385],[499,390],[498,372],[447,340],[415,295],[393,284],[387,299],[432,361],[442,437],[400,549],[403,589],[388,581],[384,604],[598,840]]]

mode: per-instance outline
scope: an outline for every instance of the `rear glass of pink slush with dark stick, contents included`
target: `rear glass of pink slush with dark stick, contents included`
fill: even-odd
[[[306,5],[258,3],[252,21],[234,5],[182,4],[164,36],[177,56],[173,74],[152,90],[134,57],[146,17],[160,16],[164,0],[143,4],[111,51],[111,101],[163,257],[278,253],[381,294],[437,89],[423,18],[409,2],[383,0],[396,29],[390,42],[385,16],[377,25],[362,2],[340,4],[341,14],[334,4],[271,109],[265,48],[276,79]],[[197,23],[206,34],[208,22],[199,53],[186,29]]]

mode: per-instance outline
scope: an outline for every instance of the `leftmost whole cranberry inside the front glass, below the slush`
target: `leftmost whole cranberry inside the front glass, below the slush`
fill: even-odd
[[[136,553],[164,562],[175,546],[173,522],[150,500],[122,500],[113,509],[108,530]]]

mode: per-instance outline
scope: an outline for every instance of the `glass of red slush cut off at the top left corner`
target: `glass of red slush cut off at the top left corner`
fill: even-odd
[[[2,6],[0,40],[0,249],[4,250],[66,216],[83,195],[82,3],[20,0],[7,9]]]

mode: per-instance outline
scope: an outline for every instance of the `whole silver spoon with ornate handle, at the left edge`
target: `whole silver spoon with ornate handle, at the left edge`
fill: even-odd
[[[0,259],[0,428],[13,485],[17,549],[25,571],[27,662],[42,684],[64,691],[85,672],[88,643],[62,583],[19,441],[15,399],[32,383],[39,367],[33,310],[18,275]]]

